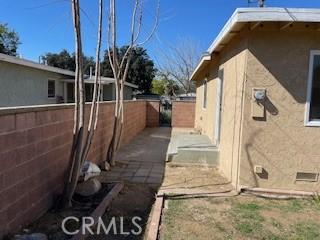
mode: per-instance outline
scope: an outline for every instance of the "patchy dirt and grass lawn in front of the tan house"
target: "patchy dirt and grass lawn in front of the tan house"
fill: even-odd
[[[271,200],[243,195],[169,197],[160,239],[320,239],[320,204],[312,199]]]

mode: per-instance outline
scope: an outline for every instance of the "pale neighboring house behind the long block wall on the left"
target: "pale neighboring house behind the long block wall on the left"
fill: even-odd
[[[0,53],[0,107],[74,102],[74,72]],[[92,99],[94,76],[85,76],[86,101]],[[113,78],[101,78],[102,100],[115,99]],[[138,86],[125,83],[124,98]]]

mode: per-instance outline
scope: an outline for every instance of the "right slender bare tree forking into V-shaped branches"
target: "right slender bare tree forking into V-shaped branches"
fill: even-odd
[[[114,111],[114,124],[113,133],[110,144],[108,146],[106,162],[111,165],[115,165],[115,154],[120,146],[120,140],[123,130],[123,91],[124,83],[128,76],[129,67],[131,64],[132,52],[138,46],[141,46],[148,42],[154,35],[158,26],[158,17],[160,9],[160,1],[157,3],[156,17],[154,26],[150,34],[145,40],[139,42],[141,33],[143,8],[141,0],[134,1],[134,7],[131,17],[131,30],[130,30],[130,43],[120,58],[117,51],[117,21],[116,21],[116,0],[110,0],[109,5],[109,16],[108,16],[108,58],[111,65],[113,77],[115,79],[116,89],[116,100],[115,100],[115,111]]]

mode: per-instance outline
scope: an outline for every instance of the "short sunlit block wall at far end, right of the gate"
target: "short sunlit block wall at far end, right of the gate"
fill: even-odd
[[[171,126],[194,128],[195,106],[195,101],[173,101]]]

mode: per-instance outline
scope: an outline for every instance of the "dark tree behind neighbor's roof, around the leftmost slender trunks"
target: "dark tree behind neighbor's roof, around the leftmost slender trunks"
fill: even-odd
[[[60,53],[46,53],[42,57],[42,61],[46,61],[49,66],[58,67],[70,71],[75,71],[75,54],[69,53],[63,49]],[[90,73],[90,67],[94,70],[95,61],[93,57],[83,56],[83,71],[84,74]]]

